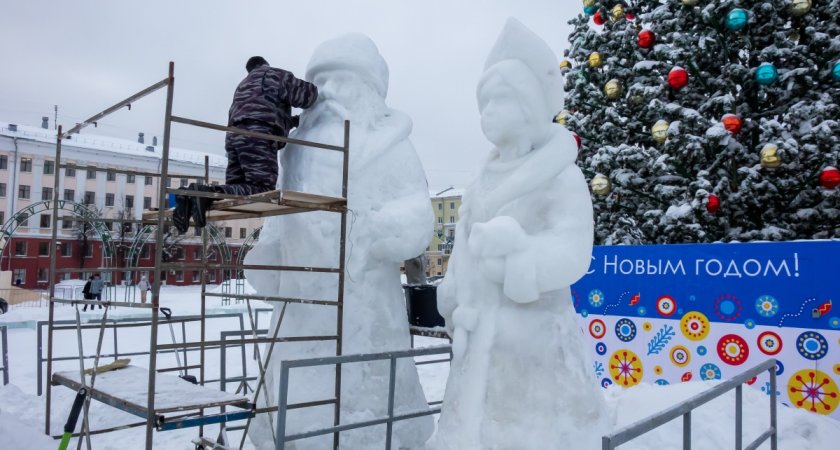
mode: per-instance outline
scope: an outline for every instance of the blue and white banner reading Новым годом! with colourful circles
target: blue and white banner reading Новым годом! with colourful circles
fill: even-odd
[[[595,247],[572,286],[602,386],[726,379],[840,420],[840,241]],[[769,374],[751,380],[770,395]]]

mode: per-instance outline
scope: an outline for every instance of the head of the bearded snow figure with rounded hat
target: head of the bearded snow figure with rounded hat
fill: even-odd
[[[330,39],[315,49],[306,79],[319,100],[344,118],[381,111],[388,95],[388,64],[373,41],[358,33]]]

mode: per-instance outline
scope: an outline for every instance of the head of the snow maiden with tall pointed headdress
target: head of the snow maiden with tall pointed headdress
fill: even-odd
[[[563,79],[548,45],[516,19],[508,19],[478,84],[481,128],[502,157],[542,145],[563,109]]]

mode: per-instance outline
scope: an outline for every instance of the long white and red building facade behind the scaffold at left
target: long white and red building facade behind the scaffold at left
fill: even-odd
[[[137,224],[121,220],[136,220],[143,211],[158,208],[160,177],[135,176],[110,172],[108,169],[161,172],[162,147],[157,138],[146,142],[142,133],[138,141],[115,139],[88,134],[74,135],[62,143],[62,164],[74,167],[59,168],[55,160],[56,133],[50,130],[46,118],[42,127],[28,127],[0,122],[0,224],[3,226],[5,246],[0,255],[0,270],[12,271],[12,282],[22,288],[39,289],[49,286],[50,253],[57,252],[57,267],[79,267],[74,273],[53,274],[56,281],[84,279],[98,267],[127,267],[129,256],[134,263],[151,266],[155,252],[154,233],[142,233]],[[170,149],[170,187],[187,186],[204,178],[205,161],[212,183],[223,183],[227,159],[184,149]],[[98,170],[95,170],[95,169]],[[58,242],[51,248],[52,208],[55,179],[58,177],[58,198],[63,200],[58,220]],[[98,226],[96,220],[79,220],[76,205],[85,205],[97,218],[110,219]],[[87,214],[87,212],[85,213]],[[242,243],[261,226],[257,219],[215,224],[219,235],[229,248],[233,261]],[[103,228],[104,227],[104,228]],[[101,234],[107,233],[112,242],[113,255],[103,252]],[[141,238],[151,236],[144,245]],[[196,230],[184,236],[170,235],[165,240],[164,253],[174,261],[194,262],[201,259],[201,239]],[[134,246],[137,249],[132,253]],[[218,250],[220,247],[216,245]],[[219,260],[221,251],[208,249],[208,258]],[[139,278],[142,273],[102,273],[113,283]],[[148,273],[154,279],[154,273]],[[201,280],[200,271],[173,271],[162,274],[167,284],[193,284]],[[221,282],[221,270],[207,274],[208,282]]]

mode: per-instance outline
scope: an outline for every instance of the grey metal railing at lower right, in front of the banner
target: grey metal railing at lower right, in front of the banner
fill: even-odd
[[[744,383],[764,371],[770,372],[770,428],[751,443],[743,446],[743,399]],[[680,416],[683,418],[683,450],[691,450],[691,411],[731,390],[735,390],[735,450],[754,450],[770,439],[771,450],[778,448],[778,428],[776,426],[776,360],[767,360],[723,383],[689,398],[664,411],[646,417],[601,438],[602,450],[613,450],[645,433],[658,428]]]

